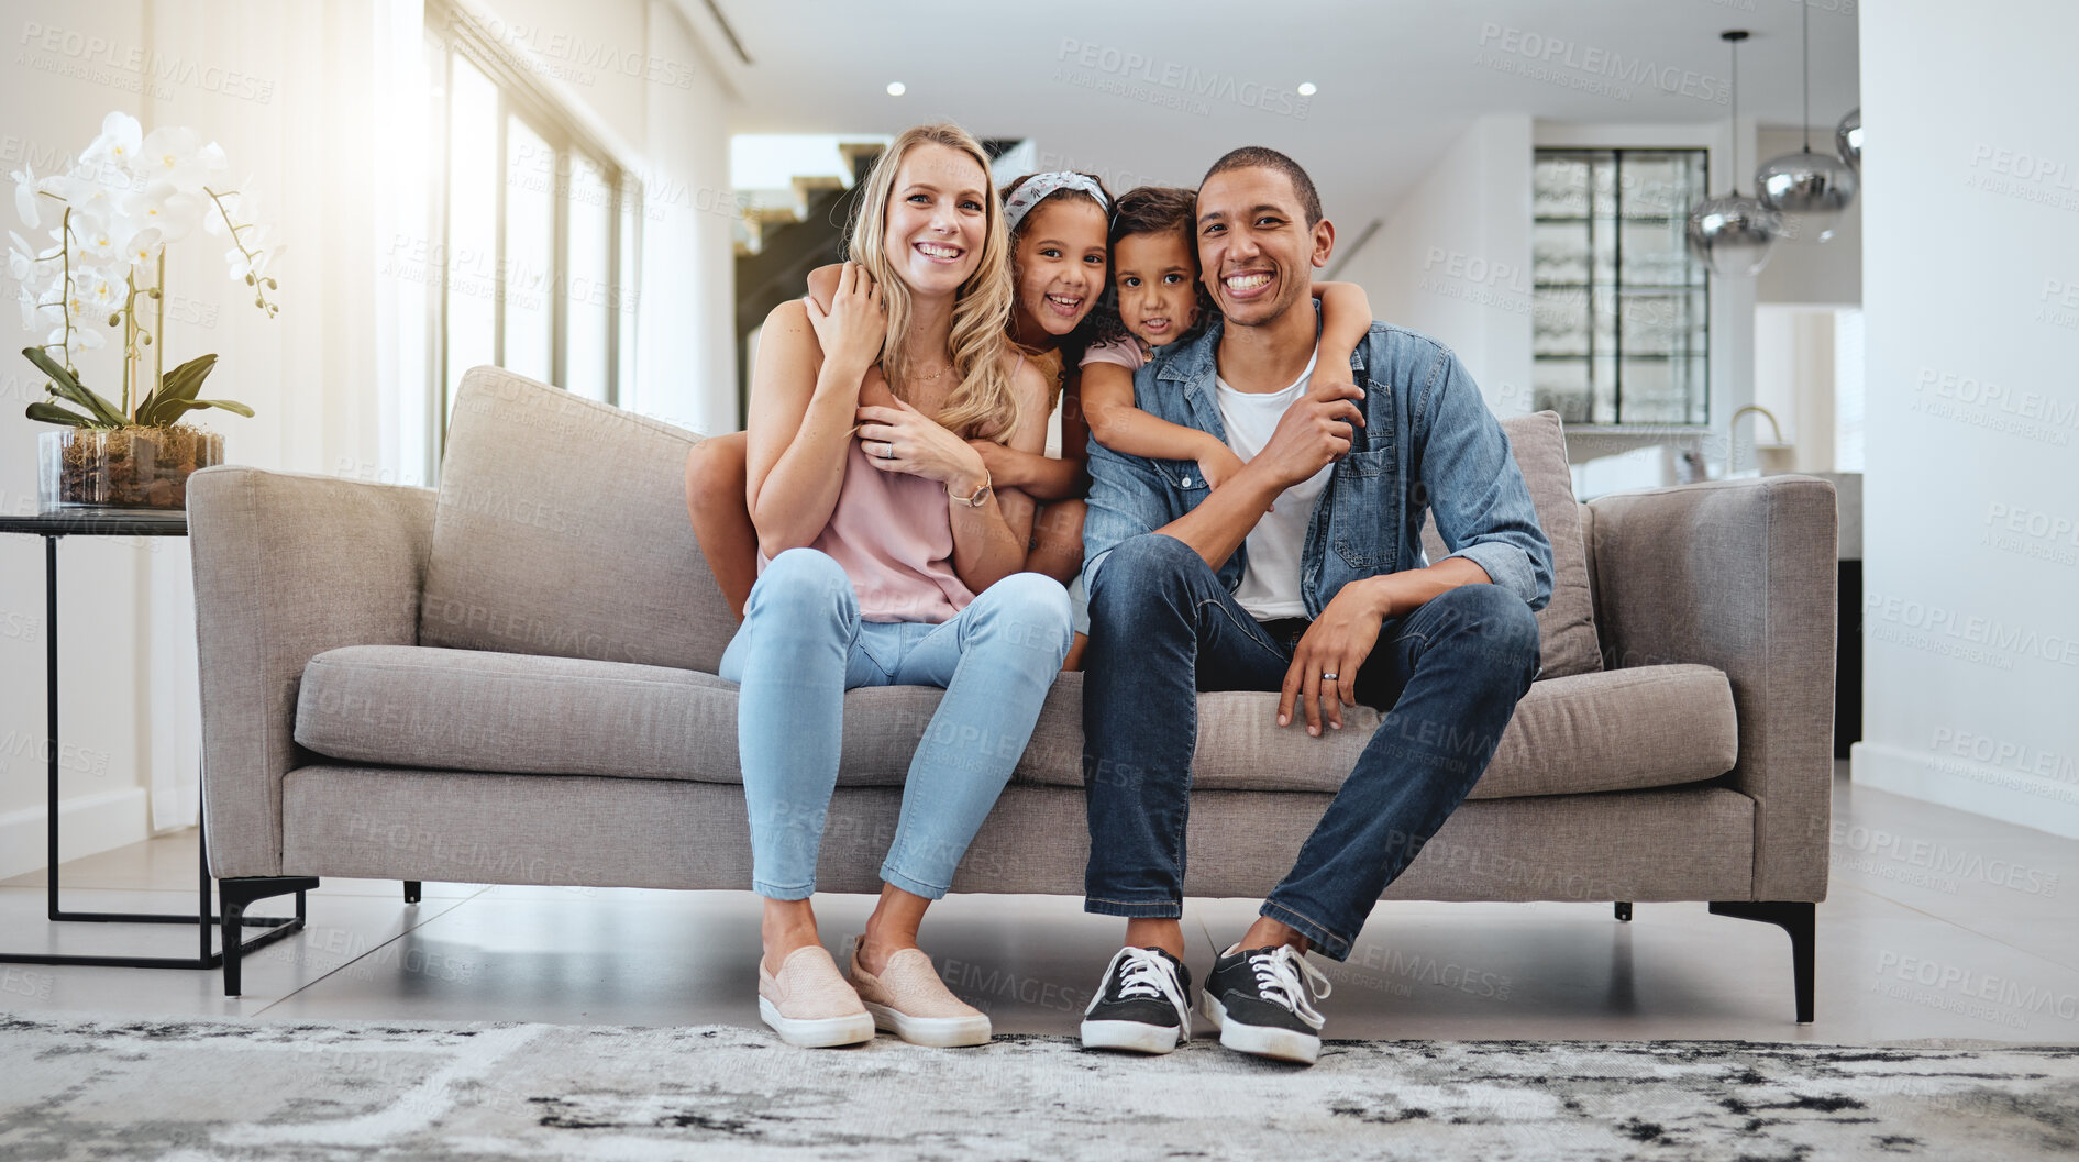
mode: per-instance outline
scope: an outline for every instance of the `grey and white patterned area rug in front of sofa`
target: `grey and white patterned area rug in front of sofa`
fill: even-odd
[[[792,1050],[763,1029],[0,1016],[0,1158],[1865,1158],[2079,1154],[2079,1048],[1204,1039]]]

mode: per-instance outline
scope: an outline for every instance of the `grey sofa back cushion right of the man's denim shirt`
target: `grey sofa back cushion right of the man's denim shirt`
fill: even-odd
[[[1588,595],[1588,551],[1580,534],[1580,509],[1574,501],[1574,474],[1565,461],[1565,432],[1557,412],[1509,416],[1501,422],[1509,451],[1524,472],[1530,503],[1538,524],[1553,543],[1553,597],[1538,609],[1541,678],[1595,674],[1603,669],[1603,649],[1595,638],[1595,601]],[[1422,520],[1422,551],[1430,563],[1449,549],[1437,536],[1437,518]]]

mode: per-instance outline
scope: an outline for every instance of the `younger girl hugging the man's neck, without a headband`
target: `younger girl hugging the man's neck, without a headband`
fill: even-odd
[[[1212,318],[1212,295],[1198,270],[1189,189],[1141,185],[1119,197],[1112,216],[1112,285],[1127,337],[1083,353],[1081,401],[1089,434],[1112,451],[1152,459],[1191,459],[1218,488],[1241,468],[1212,432],[1158,420],[1133,405],[1133,372],[1156,347],[1198,333]],[[1372,328],[1372,303],[1356,283],[1314,283],[1320,299],[1320,358],[1314,382],[1347,382],[1349,358]]]

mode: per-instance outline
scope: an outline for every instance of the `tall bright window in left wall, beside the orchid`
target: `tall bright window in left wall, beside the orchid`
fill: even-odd
[[[534,83],[520,42],[428,0],[426,54],[426,422],[437,461],[455,389],[478,364],[605,403],[634,395],[642,191]]]

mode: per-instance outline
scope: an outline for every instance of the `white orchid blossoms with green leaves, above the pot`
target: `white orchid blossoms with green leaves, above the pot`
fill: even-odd
[[[46,341],[23,355],[50,376],[50,399],[31,403],[27,416],[73,428],[170,428],[187,412],[222,407],[252,416],[231,399],[200,399],[202,380],[216,355],[200,355],[162,372],[166,320],[166,245],[195,227],[229,237],[225,260],[231,276],[254,289],[254,306],[274,316],[268,266],[281,245],[268,247],[268,227],[241,225],[254,200],[225,189],[225,150],[204,146],[193,129],[160,127],[150,135],[127,112],[110,112],[67,175],[35,177],[25,166],[15,179],[15,208],[27,229],[50,222],[48,249],[8,231],[8,270],[21,285],[21,320]],[[249,185],[249,181],[247,181]],[[148,303],[139,303],[143,297]],[[150,324],[146,324],[150,306]],[[79,380],[73,349],[102,347],[102,328],[123,328],[123,397],[104,399]],[[146,349],[152,374],[143,376]],[[73,403],[79,407],[67,407]]]

